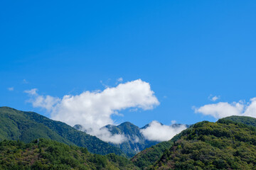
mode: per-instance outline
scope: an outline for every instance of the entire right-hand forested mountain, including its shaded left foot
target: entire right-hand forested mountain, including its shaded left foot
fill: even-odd
[[[238,169],[250,169],[256,162],[256,157],[253,156],[255,154],[256,141],[256,128],[253,127],[255,126],[255,120],[255,118],[245,116],[230,116],[218,120],[217,123],[196,123],[196,125],[191,125],[190,128],[183,130],[183,132],[179,133],[168,142],[160,142],[157,145],[144,149],[131,160],[141,169],[236,169],[235,167]],[[235,130],[237,131],[235,132]],[[201,166],[197,166],[197,163],[199,161],[202,162],[202,160],[196,158],[196,160],[191,161],[190,159],[195,159],[194,156],[198,154],[198,152],[205,154],[204,150],[201,150],[203,148],[186,148],[186,152],[193,153],[186,154],[186,152],[182,150],[183,147],[186,147],[184,141],[191,143],[191,145],[200,145],[203,142],[213,147],[211,149],[216,150],[215,153],[212,152],[215,154],[215,157],[206,154],[206,157],[209,159],[208,162],[203,162]],[[206,145],[204,146],[206,147],[205,149],[210,148]],[[240,157],[238,157],[234,152],[238,154],[238,152],[241,152],[242,147],[244,147],[243,149],[248,147],[245,150],[250,151],[246,156],[240,155]],[[209,150],[208,152],[211,151]],[[228,162],[230,165],[225,164],[225,166],[223,166],[225,168],[213,165],[213,162],[216,162],[214,159],[223,159],[223,157],[220,156],[225,155],[225,152],[228,153],[225,158],[230,157],[230,152],[233,153],[233,157],[230,157],[228,161],[224,159],[225,162]],[[201,157],[203,154],[201,154]],[[251,154],[252,157],[250,157]],[[237,159],[242,160],[243,163],[240,162],[238,164],[241,166],[236,166],[238,164],[234,165],[232,159],[235,160],[235,162],[237,162]],[[190,161],[186,162],[186,160]],[[244,163],[246,161],[248,161],[247,164]],[[190,162],[192,162],[192,164],[190,164]],[[186,166],[186,164],[188,164],[188,166]]]

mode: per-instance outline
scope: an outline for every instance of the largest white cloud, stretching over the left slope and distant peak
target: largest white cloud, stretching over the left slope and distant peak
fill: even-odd
[[[142,108],[149,110],[159,105],[159,101],[151,91],[149,83],[137,79],[107,87],[104,91],[85,91],[79,95],[65,95],[63,98],[41,96],[37,89],[25,91],[31,95],[29,102],[33,107],[46,108],[53,120],[60,120],[68,125],[82,125],[91,135],[96,135],[106,142],[117,140],[122,142],[122,135],[111,136],[106,130],[100,130],[105,125],[114,124],[111,115],[127,108]]]

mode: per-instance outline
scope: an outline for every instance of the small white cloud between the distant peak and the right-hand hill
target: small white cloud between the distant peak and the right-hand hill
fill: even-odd
[[[162,125],[156,120],[149,123],[149,127],[140,130],[147,140],[154,141],[167,141],[177,135],[182,130],[186,129],[186,125],[181,125],[178,128],[171,127],[169,125]]]

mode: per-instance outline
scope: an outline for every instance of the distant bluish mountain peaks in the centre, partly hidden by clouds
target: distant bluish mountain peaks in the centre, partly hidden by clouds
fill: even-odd
[[[171,126],[173,128],[178,128],[181,125],[182,124],[174,124]],[[127,141],[122,142],[121,144],[110,143],[110,145],[113,145],[114,147],[119,147],[125,154],[127,154],[128,157],[133,157],[138,152],[159,143],[158,141],[146,140],[144,135],[142,135],[142,132],[140,132],[140,130],[148,127],[149,124],[145,125],[143,128],[139,128],[137,125],[129,122],[124,122],[117,126],[106,125],[102,128],[107,128],[112,133],[112,135],[123,134],[125,137],[127,137]],[[188,128],[189,125],[186,125],[186,127]],[[75,125],[74,128],[77,130],[83,130],[82,125]]]

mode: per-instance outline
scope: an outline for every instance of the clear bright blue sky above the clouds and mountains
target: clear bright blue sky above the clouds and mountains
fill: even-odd
[[[117,123],[214,121],[192,107],[256,96],[255,8],[256,1],[1,1],[0,106],[49,116],[24,91],[62,98],[115,87],[122,77],[149,83],[160,104],[119,111]]]

